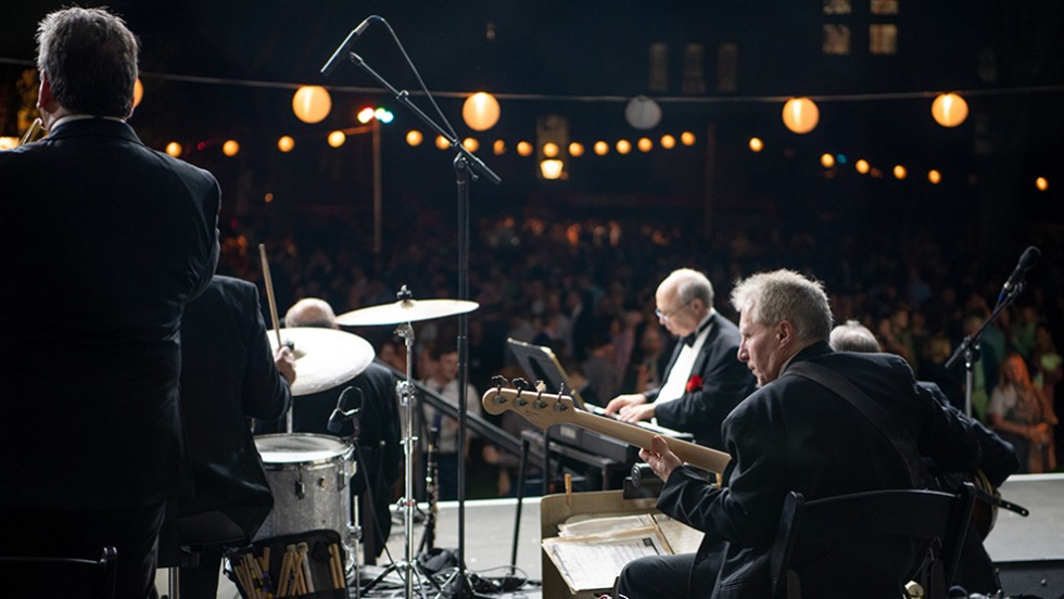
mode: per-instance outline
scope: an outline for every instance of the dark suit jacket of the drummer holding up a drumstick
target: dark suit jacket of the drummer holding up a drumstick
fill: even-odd
[[[292,398],[274,365],[255,285],[215,277],[185,310],[181,359],[194,496],[181,500],[180,514],[221,511],[252,538],[274,496],[249,420],[281,418]]]

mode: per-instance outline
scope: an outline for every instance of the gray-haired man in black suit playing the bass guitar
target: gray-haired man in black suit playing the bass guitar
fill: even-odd
[[[740,313],[738,358],[760,388],[724,420],[724,443],[732,456],[726,486],[710,484],[683,466],[661,437],[641,451],[666,481],[658,508],[706,535],[696,553],[629,563],[618,594],[630,599],[769,597],[769,550],[787,493],[797,490],[813,500],[912,488],[917,473],[905,466],[896,442],[915,444],[922,455],[949,469],[972,469],[980,459],[971,426],[919,391],[900,357],[832,349],[832,313],[819,282],[787,270],[759,273],[736,285],[732,303]],[[891,441],[882,423],[797,374],[802,362],[851,381],[892,415],[910,438]],[[825,547],[822,558],[796,564],[802,594],[869,597],[870,588],[886,584],[896,587],[889,597],[901,597],[915,558],[911,545]]]

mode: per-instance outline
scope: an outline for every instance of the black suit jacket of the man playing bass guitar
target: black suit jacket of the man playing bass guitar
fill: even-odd
[[[826,343],[807,347],[791,364],[810,360],[848,378],[897,417],[920,453],[946,468],[967,470],[979,461],[971,426],[917,391],[912,371],[887,354],[834,353]],[[706,532],[692,571],[698,597],[770,596],[768,553],[784,497],[807,500],[882,488],[909,488],[903,460],[845,399],[818,383],[783,375],[758,390],[724,420],[732,462],[726,486],[711,487],[688,467],[673,471],[658,508]],[[877,579],[900,585],[914,549],[891,544],[870,555],[856,547],[825,548],[823,559],[798,564],[802,594],[867,596]],[[869,563],[876,566],[869,569]],[[900,581],[899,581],[900,578]]]

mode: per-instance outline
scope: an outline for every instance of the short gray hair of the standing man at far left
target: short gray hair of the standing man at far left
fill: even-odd
[[[129,116],[139,51],[125,21],[104,9],[59,10],[37,27],[37,69],[74,114]]]

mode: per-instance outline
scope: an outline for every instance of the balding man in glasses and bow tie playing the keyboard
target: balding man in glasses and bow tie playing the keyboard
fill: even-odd
[[[721,421],[753,392],[757,382],[736,359],[738,328],[713,309],[713,285],[691,268],[672,271],[655,293],[658,322],[680,337],[660,387],[615,397],[607,413],[624,422],[657,424],[724,449]]]

